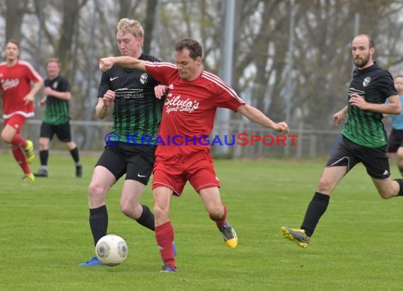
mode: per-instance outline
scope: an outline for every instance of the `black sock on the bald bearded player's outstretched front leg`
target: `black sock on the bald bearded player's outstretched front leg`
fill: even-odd
[[[329,195],[321,194],[315,192],[312,201],[308,205],[308,209],[305,213],[305,218],[303,219],[303,224],[301,229],[305,230],[306,235],[310,237],[315,231],[317,222],[319,222],[320,217],[325,213],[327,205],[329,204]]]

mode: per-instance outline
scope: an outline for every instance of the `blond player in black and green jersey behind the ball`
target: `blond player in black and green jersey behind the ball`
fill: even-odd
[[[124,56],[146,61],[158,61],[142,53],[144,30],[136,20],[122,18],[117,24],[116,40]],[[158,126],[162,115],[163,100],[156,98],[154,87],[158,85],[151,75],[135,69],[113,66],[103,73],[98,91],[96,114],[104,119],[113,110],[112,133],[114,138],[107,145],[93,172],[88,198],[90,230],[94,245],[107,234],[107,208],[105,196],[110,187],[126,174],[120,209],[124,215],[154,230],[154,215],[146,205],[139,203],[144,186],[148,183],[154,164]],[[149,143],[141,141],[147,136]],[[151,136],[151,139],[149,138]],[[79,266],[102,265],[96,256]]]

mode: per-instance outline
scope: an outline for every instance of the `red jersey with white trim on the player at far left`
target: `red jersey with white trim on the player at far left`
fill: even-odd
[[[39,81],[42,81],[42,77],[27,61],[18,60],[14,66],[7,66],[6,62],[0,64],[0,90],[3,91],[3,117],[5,119],[14,114],[33,117],[33,102],[24,105],[23,98],[30,93],[31,82]]]

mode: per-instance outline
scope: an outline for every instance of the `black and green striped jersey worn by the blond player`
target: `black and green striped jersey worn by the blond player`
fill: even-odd
[[[159,61],[141,54],[144,61]],[[145,71],[112,66],[103,73],[98,97],[107,90],[115,91],[112,133],[124,143],[155,143],[158,136],[163,100],[156,98],[154,87],[159,83]]]

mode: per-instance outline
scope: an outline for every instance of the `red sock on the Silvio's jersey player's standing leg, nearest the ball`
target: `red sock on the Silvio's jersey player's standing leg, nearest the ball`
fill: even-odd
[[[172,247],[174,235],[170,221],[165,222],[163,225],[156,226],[156,240],[161,258],[165,265],[169,265],[172,268],[176,268]]]

